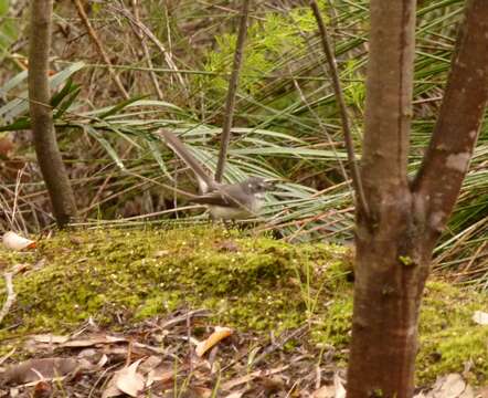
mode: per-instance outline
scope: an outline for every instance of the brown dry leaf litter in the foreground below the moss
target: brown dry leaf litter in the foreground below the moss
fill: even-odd
[[[15,363],[13,353],[0,358],[0,397],[346,397],[344,369],[333,353],[318,362],[317,349],[306,343],[306,327],[288,332],[279,344],[274,337],[211,327],[201,315],[179,311],[124,333],[102,332],[92,322],[71,336],[33,335],[24,343],[30,359]],[[289,336],[293,349],[284,346]],[[415,397],[482,394],[450,374]]]

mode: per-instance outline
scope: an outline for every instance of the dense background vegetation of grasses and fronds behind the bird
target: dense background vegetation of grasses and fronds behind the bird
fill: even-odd
[[[368,1],[322,1],[360,154],[368,55]],[[420,2],[411,169],[433,129],[454,46],[460,0]],[[236,14],[227,1],[93,3],[91,23],[130,95],[113,83],[86,27],[68,1],[55,9],[52,100],[64,159],[77,193],[79,223],[187,222],[174,206],[191,179],[151,133],[184,133],[202,161],[216,161]],[[0,1],[0,178],[4,229],[52,223],[29,145],[24,2]],[[338,108],[309,9],[293,1],[254,6],[241,76],[227,180],[283,178],[258,228],[289,241],[351,239],[352,202]],[[144,27],[142,27],[144,25]],[[142,28],[141,28],[142,27]],[[150,34],[147,33],[149,31]],[[142,32],[142,33],[141,33]],[[145,33],[146,32],[146,33]],[[147,51],[145,50],[147,48]],[[9,130],[18,130],[12,135]],[[436,264],[456,281],[488,286],[488,128],[480,134]],[[18,171],[21,170],[21,174]],[[191,222],[204,218],[192,207]],[[113,220],[113,221],[108,221]]]

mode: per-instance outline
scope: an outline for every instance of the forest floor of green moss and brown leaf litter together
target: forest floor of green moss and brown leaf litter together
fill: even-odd
[[[210,226],[2,248],[15,296],[0,318],[0,397],[344,396],[352,256]],[[427,284],[418,397],[487,394],[488,326],[474,318],[487,298]]]

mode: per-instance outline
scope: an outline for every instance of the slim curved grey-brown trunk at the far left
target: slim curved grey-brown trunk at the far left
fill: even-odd
[[[31,1],[29,101],[35,154],[60,227],[76,213],[73,191],[55,137],[47,80],[52,0]]]

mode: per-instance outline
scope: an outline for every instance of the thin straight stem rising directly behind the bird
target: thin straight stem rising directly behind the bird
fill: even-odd
[[[224,126],[222,127],[221,148],[219,153],[219,161],[215,170],[215,181],[220,182],[224,174],[225,160],[227,156],[229,143],[231,140],[232,121],[234,118],[235,94],[237,92],[238,75],[242,65],[242,55],[244,43],[247,35],[247,18],[250,13],[251,0],[243,0],[241,23],[238,27],[237,43],[235,44],[234,64],[232,66],[232,75],[229,82],[227,100],[225,103]]]

